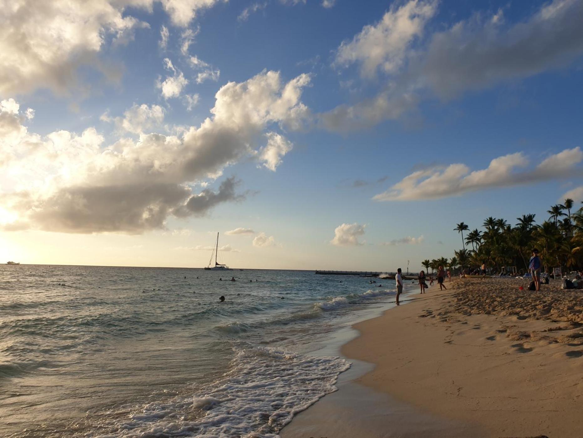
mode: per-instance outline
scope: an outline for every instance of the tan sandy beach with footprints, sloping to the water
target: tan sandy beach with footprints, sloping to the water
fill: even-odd
[[[583,436],[583,291],[559,281],[520,291],[528,281],[498,278],[446,285],[355,325],[361,335],[342,353],[374,369],[282,436],[357,436],[362,421],[350,418],[363,414],[366,436]],[[384,394],[387,412],[364,412],[363,397],[351,394],[361,386]],[[419,429],[415,416],[429,427]]]

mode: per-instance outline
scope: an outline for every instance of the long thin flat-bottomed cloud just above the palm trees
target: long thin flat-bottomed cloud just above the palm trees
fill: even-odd
[[[417,170],[389,190],[375,195],[377,201],[412,201],[457,196],[466,192],[496,187],[539,183],[542,181],[583,175],[578,166],[583,161],[583,151],[577,147],[551,155],[533,169],[517,171],[528,166],[522,152],[504,155],[491,160],[486,169],[470,171],[465,164],[447,167],[431,166]]]

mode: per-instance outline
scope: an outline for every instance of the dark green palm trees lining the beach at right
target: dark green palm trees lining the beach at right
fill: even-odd
[[[582,202],[583,204],[583,202]],[[517,267],[528,271],[532,248],[538,248],[545,270],[554,267],[578,270],[583,267],[583,207],[573,212],[573,199],[564,204],[551,206],[549,219],[537,224],[533,214],[522,215],[512,226],[505,219],[490,216],[482,223],[483,230],[470,230],[460,222],[454,228],[461,234],[462,249],[455,251],[449,260],[441,257],[424,260],[422,265],[429,271],[440,265],[470,271],[486,265],[488,271],[500,272],[503,267]],[[464,237],[465,232],[465,237]]]

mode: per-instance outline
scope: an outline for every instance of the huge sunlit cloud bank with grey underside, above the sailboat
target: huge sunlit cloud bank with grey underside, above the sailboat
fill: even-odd
[[[193,185],[216,180],[243,156],[257,156],[265,132],[297,121],[307,82],[303,76],[282,82],[278,72],[229,82],[198,127],[180,135],[141,133],[110,145],[94,128],[29,132],[17,102],[2,100],[0,207],[2,218],[10,218],[3,227],[142,233],[164,228],[168,216],[201,216],[220,202],[243,199],[233,177],[218,190],[195,194]],[[139,118],[131,120],[138,131]]]

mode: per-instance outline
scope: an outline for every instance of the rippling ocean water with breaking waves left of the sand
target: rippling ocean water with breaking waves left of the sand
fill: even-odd
[[[394,305],[375,280],[0,265],[0,435],[276,436],[350,367],[318,350]]]

